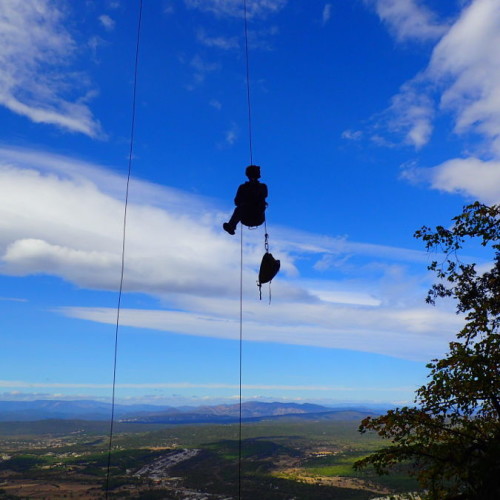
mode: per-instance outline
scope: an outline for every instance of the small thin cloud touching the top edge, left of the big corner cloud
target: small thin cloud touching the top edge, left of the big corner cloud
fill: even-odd
[[[436,40],[447,25],[422,2],[417,0],[367,0],[375,5],[380,19],[386,23],[397,40]]]

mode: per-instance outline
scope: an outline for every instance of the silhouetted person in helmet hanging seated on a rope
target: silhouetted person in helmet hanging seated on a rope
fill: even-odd
[[[255,227],[260,226],[266,220],[266,198],[267,186],[260,179],[260,167],[257,165],[249,165],[245,174],[248,181],[241,184],[234,198],[233,215],[229,222],[224,222],[222,227],[229,234],[234,234],[238,222],[245,226]]]

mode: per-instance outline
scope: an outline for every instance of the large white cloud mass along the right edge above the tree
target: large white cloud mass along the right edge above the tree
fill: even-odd
[[[478,153],[443,162],[423,174],[431,187],[486,203],[500,202],[500,9],[476,0],[438,43],[428,79],[443,88],[440,107],[451,112],[457,134],[482,139]]]

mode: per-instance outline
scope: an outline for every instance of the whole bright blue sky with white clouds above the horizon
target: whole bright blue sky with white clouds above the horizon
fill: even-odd
[[[0,398],[111,395],[138,2],[0,4]],[[242,1],[145,0],[117,398],[235,401]],[[245,399],[408,402],[460,329],[413,233],[500,201],[500,2],[248,0]],[[488,265],[480,250],[465,258]],[[264,291],[264,297],[267,295]]]

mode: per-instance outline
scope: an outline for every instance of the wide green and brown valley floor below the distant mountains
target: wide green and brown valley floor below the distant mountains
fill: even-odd
[[[103,498],[109,425],[0,425],[0,498]],[[356,422],[115,428],[110,498],[368,500],[414,491],[405,471],[378,477],[352,464],[377,449]],[[241,469],[238,457],[241,451]],[[241,483],[239,477],[241,474]]]

